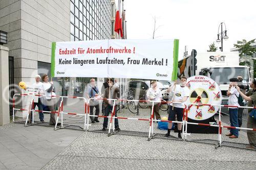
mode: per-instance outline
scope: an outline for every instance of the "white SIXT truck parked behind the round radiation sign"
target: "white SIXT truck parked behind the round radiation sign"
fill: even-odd
[[[249,68],[239,65],[238,52],[207,52],[198,53],[196,75],[203,75],[211,78],[221,88],[222,94],[226,95],[229,86],[229,79],[242,76],[246,82],[250,80]],[[179,61],[178,77],[193,75],[193,58],[188,56]]]

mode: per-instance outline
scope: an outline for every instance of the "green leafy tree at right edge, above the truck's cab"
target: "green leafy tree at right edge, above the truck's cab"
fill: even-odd
[[[253,53],[256,53],[256,48],[253,48],[250,44],[253,43],[255,39],[246,41],[243,39],[242,41],[237,41],[237,44],[234,44],[234,47],[238,48],[240,54],[239,56],[249,56],[252,57]]]

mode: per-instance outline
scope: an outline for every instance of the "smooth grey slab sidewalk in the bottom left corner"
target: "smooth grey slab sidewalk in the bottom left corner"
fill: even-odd
[[[1,126],[0,169],[40,169],[82,133],[13,123]]]

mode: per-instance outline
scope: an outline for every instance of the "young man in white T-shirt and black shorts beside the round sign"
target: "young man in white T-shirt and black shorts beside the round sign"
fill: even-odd
[[[173,84],[173,86],[170,86],[167,89],[167,92],[173,92],[173,100],[171,102],[181,102],[185,103],[187,101],[187,98],[189,97],[189,89],[186,86],[186,80],[187,78],[182,76],[181,77],[181,84],[176,84],[176,82]],[[169,107],[169,115],[168,120],[174,121],[175,115],[177,116],[178,122],[182,122],[182,116],[183,116],[183,109],[184,105],[181,103],[170,103]],[[173,123],[168,123],[168,130],[165,134],[165,137],[170,136],[170,130],[172,129]],[[181,138],[181,128],[182,123],[178,123],[178,138]]]

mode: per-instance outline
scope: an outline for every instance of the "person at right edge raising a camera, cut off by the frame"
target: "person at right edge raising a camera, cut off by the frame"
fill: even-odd
[[[243,93],[240,90],[240,87],[236,85],[236,88],[239,94],[245,101],[248,101],[248,107],[255,107],[256,106],[256,78],[250,84],[250,89],[247,93]],[[248,113],[250,113],[253,109],[248,109]],[[253,117],[248,114],[247,118],[247,128],[256,129],[256,121]],[[250,145],[247,148],[256,149],[256,131],[247,130],[247,137]]]

